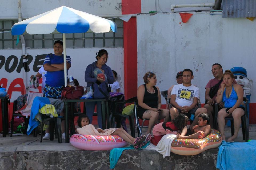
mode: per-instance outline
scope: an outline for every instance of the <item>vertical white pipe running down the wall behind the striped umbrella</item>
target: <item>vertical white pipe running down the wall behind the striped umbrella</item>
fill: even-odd
[[[22,17],[21,17],[21,0],[18,0],[18,21],[21,22],[22,21]],[[26,62],[26,59],[25,57],[27,56],[26,54],[26,43],[25,43],[25,39],[24,39],[24,36],[23,35],[20,35],[21,36],[21,45],[22,45],[22,56],[23,56],[23,63]],[[25,57],[24,57],[25,56]],[[25,85],[25,89],[26,89],[26,93],[27,93],[27,90],[28,90],[28,86],[27,86],[27,73],[25,71],[25,68],[24,68],[24,71],[23,71],[23,81],[24,81],[24,85]]]

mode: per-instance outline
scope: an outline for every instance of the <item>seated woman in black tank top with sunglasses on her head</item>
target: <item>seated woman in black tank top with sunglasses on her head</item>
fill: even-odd
[[[137,115],[141,119],[149,119],[149,128],[146,134],[151,134],[151,129],[158,119],[168,121],[169,111],[161,109],[161,96],[159,88],[155,86],[157,83],[155,73],[147,72],[143,80],[145,84],[140,85],[137,90],[139,104]]]

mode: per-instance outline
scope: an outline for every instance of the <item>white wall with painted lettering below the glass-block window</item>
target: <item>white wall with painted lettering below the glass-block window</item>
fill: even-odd
[[[84,79],[85,69],[87,65],[96,61],[96,52],[102,48],[75,48],[75,49],[67,49],[67,55],[71,57],[72,65],[69,69],[68,74],[73,75],[75,79],[78,79],[80,86],[86,86],[86,82]],[[123,73],[123,48],[104,48],[109,53],[109,59],[107,61],[107,65],[111,67],[112,70],[117,71],[118,74],[118,82],[120,83],[120,91],[123,92],[123,83],[124,83],[124,73]],[[30,71],[27,73],[27,82],[29,85],[29,80],[31,75],[35,75],[36,73],[33,71],[33,63],[35,61],[35,56],[41,54],[53,53],[53,49],[27,49],[26,51],[29,55],[33,56],[33,61],[29,65]],[[15,55],[18,59],[21,57],[22,50],[0,50],[0,55],[5,56],[5,59],[10,55]],[[13,61],[10,62],[9,68],[11,67]],[[8,73],[5,71],[5,65],[0,69],[0,80],[2,78],[7,78],[8,83],[7,87],[10,86],[10,83],[16,78],[23,78],[23,69],[21,73],[17,73],[16,69]],[[1,85],[1,84],[0,84]],[[19,87],[19,85],[17,85]],[[30,89],[31,90],[31,89]],[[7,88],[8,91],[8,88]],[[38,91],[38,89],[32,89],[31,91]],[[21,92],[13,92],[11,97],[11,102],[15,100],[18,96],[21,95]]]

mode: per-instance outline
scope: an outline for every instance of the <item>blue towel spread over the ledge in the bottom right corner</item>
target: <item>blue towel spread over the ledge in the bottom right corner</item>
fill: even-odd
[[[226,142],[219,146],[216,168],[220,170],[256,169],[256,141]]]

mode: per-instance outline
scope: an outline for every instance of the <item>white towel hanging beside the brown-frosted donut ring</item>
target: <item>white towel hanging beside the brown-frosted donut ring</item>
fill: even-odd
[[[171,143],[176,138],[174,134],[167,134],[162,137],[157,146],[150,143],[145,150],[155,150],[163,155],[163,157],[170,156],[171,154]]]

